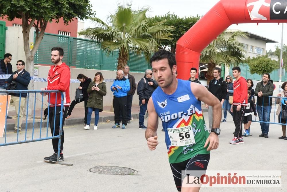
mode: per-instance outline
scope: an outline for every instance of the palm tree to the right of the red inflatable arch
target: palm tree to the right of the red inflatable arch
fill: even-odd
[[[224,31],[201,52],[200,61],[208,64],[207,85],[213,78],[213,69],[219,66],[239,66],[245,59],[243,43],[237,38],[248,38],[246,32]]]

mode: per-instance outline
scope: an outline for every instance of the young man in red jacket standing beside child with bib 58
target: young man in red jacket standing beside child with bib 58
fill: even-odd
[[[235,124],[234,138],[229,142],[230,144],[244,143],[242,129],[245,110],[248,103],[247,96],[247,82],[244,77],[241,77],[240,67],[232,68],[233,77],[236,80],[233,82],[233,104],[231,112],[233,112],[233,121]]]

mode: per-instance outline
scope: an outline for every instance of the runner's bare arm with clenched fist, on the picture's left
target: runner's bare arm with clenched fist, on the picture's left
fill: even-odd
[[[148,127],[146,129],[146,140],[148,141],[148,148],[150,150],[156,149],[158,145],[158,136],[156,130],[158,129],[158,114],[154,109],[152,97],[148,101]]]

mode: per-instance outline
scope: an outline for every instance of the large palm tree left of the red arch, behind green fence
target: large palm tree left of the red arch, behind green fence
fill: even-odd
[[[99,18],[90,18],[96,23],[95,28],[79,32],[95,41],[100,41],[102,49],[109,55],[119,50],[118,69],[123,69],[129,59],[129,51],[144,53],[147,60],[158,50],[160,39],[172,39],[172,26],[164,25],[165,21],[154,22],[146,17],[150,7],[133,11],[131,3],[118,4],[115,14],[108,16],[105,23]]]

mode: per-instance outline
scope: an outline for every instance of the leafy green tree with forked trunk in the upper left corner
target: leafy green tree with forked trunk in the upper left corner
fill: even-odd
[[[1,0],[0,16],[12,21],[14,18],[22,19],[22,33],[24,38],[24,51],[26,56],[26,70],[34,74],[34,55],[44,37],[48,22],[53,19],[59,22],[63,18],[68,24],[73,19],[85,19],[92,16],[92,9],[89,0]],[[36,27],[36,41],[34,47],[29,47],[29,32]],[[31,81],[28,89],[34,89],[34,81]],[[30,94],[32,101],[32,94]],[[29,105],[32,107],[32,105]],[[29,115],[31,108],[29,108]]]

